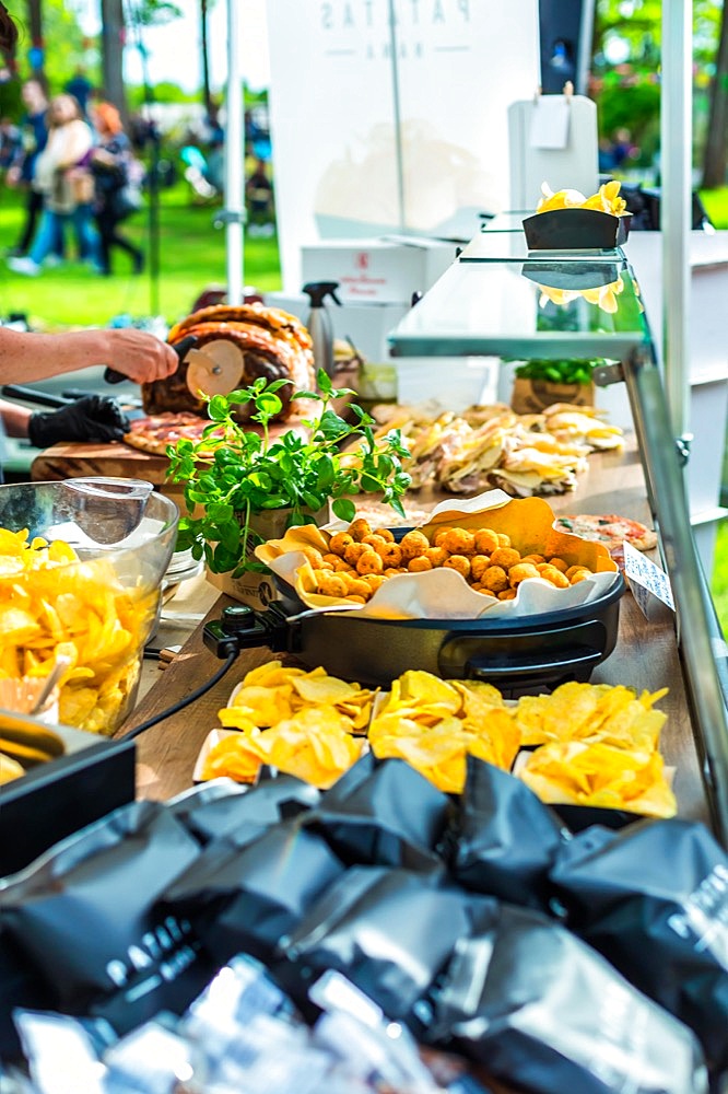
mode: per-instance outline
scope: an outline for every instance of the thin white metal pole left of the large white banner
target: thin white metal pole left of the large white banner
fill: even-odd
[[[227,95],[225,133],[225,242],[227,302],[243,300],[243,222],[245,219],[243,168],[243,81],[240,79],[238,13],[240,0],[227,0]]]

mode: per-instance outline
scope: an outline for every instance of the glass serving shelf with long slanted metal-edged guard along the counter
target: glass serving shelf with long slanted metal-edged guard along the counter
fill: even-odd
[[[396,357],[601,358],[624,383],[647,500],[674,598],[674,630],[715,831],[728,842],[728,673],[690,528],[685,454],[673,438],[639,286],[621,247],[529,252],[522,216],[486,228],[390,335]],[[555,306],[551,306],[555,305]],[[634,651],[648,660],[650,649]],[[655,680],[655,686],[660,682]],[[661,683],[666,683],[662,680]]]

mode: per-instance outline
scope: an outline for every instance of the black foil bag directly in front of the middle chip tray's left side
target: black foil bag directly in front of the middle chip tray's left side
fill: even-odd
[[[400,759],[368,753],[321,798],[304,823],[350,864],[442,869],[437,846],[450,802]]]

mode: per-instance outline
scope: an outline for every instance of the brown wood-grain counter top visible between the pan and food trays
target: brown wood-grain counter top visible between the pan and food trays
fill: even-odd
[[[413,496],[416,501],[416,494]],[[621,513],[649,524],[638,455],[631,442],[622,453],[590,457],[589,472],[576,491],[549,499],[556,512]],[[426,499],[432,504],[432,498]],[[423,499],[423,504],[425,499]],[[207,619],[219,618],[233,603],[221,596]],[[207,621],[203,620],[204,621]],[[119,734],[141,724],[190,695],[220,667],[221,662],[202,642],[203,622],[192,632],[178,656],[139,703]],[[218,710],[225,706],[233,687],[253,667],[273,656],[267,649],[245,651],[227,675],[189,708],[172,715],[138,740],[138,792],[142,798],[165,800],[192,784],[192,769],[206,735],[219,728]],[[293,662],[293,659],[285,660]],[[659,709],[668,715],[661,750],[666,763],[676,768],[674,790],[679,814],[685,819],[709,823],[701,764],[695,747],[682,670],[674,636],[674,617],[656,606],[654,617],[644,617],[627,592],[620,607],[620,628],[613,653],[591,677],[592,683],[625,684],[637,691],[669,687]]]

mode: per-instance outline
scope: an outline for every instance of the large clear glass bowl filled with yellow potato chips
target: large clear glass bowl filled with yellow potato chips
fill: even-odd
[[[136,479],[0,486],[0,680],[46,679],[58,720],[111,735],[129,713],[177,507]]]

